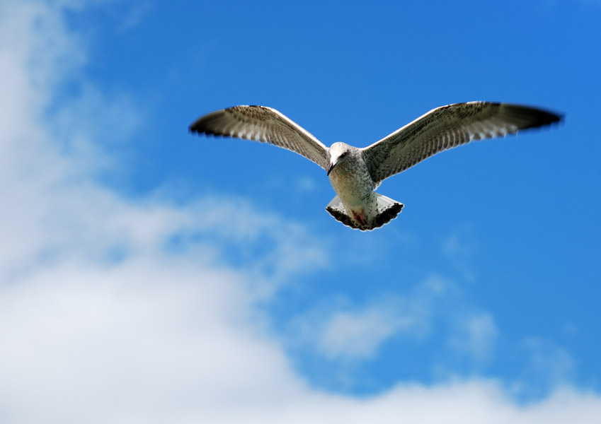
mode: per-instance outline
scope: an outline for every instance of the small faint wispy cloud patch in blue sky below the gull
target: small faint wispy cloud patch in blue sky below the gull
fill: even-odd
[[[356,305],[344,295],[322,300],[294,317],[294,346],[315,351],[328,360],[369,360],[392,338],[447,338],[444,348],[470,363],[483,365],[494,353],[498,329],[490,313],[463,298],[452,281],[433,274],[405,295],[379,293]]]

